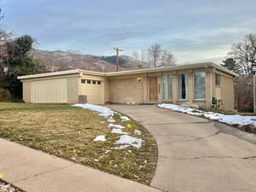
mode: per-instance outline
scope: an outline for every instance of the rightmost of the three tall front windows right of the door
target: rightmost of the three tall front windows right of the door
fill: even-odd
[[[195,73],[195,99],[206,98],[206,73]]]

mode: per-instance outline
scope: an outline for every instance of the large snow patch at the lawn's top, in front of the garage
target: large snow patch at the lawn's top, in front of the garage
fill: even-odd
[[[74,107],[78,107],[78,108],[86,108],[89,109],[90,111],[95,111],[96,113],[98,113],[99,115],[103,116],[103,117],[108,117],[108,116],[113,116],[113,110],[111,110],[110,108],[106,108],[106,107],[102,107],[99,105],[92,105],[89,103],[85,103],[85,104],[75,104],[73,105]]]

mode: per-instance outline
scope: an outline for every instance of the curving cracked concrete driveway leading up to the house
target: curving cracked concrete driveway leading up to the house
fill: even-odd
[[[255,192],[256,145],[212,121],[155,106],[110,105],[136,119],[158,143],[152,186],[170,192]],[[235,131],[235,130],[234,130]]]

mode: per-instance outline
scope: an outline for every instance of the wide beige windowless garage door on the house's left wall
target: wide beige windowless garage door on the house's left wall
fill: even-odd
[[[67,102],[67,79],[50,79],[32,82],[31,99],[34,103]]]

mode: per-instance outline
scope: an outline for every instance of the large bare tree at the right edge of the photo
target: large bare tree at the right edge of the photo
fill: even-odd
[[[241,43],[234,44],[230,55],[241,66],[241,73],[251,75],[256,64],[256,34],[247,34]]]

